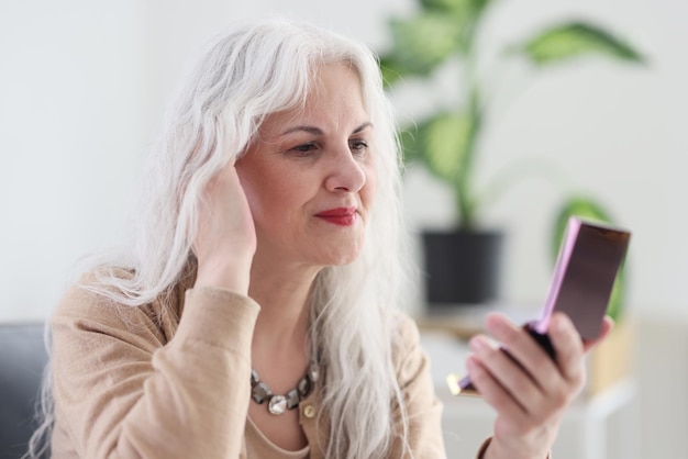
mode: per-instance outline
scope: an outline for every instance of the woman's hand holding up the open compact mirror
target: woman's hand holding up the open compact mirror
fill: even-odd
[[[568,316],[555,313],[547,333],[556,350],[555,361],[522,327],[501,314],[488,316],[487,331],[513,358],[484,335],[470,340],[474,354],[467,361],[468,374],[497,411],[495,435],[485,459],[547,457],[564,411],[585,383],[584,357],[612,326],[612,320],[606,317],[600,336],[584,344]]]

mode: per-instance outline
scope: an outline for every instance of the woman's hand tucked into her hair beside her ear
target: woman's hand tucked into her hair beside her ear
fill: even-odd
[[[234,164],[228,164],[206,186],[199,208],[193,253],[195,287],[217,287],[247,294],[256,231]]]

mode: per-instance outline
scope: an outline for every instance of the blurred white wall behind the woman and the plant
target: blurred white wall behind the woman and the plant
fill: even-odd
[[[590,19],[648,58],[645,66],[590,59],[546,72],[510,68],[503,78],[515,90],[497,104],[476,180],[532,155],[558,167],[555,179],[519,182],[482,215],[508,234],[502,302],[542,304],[562,195],[592,193],[632,229],[626,316],[644,419],[637,457],[688,457],[688,2],[497,3],[479,37],[488,52],[546,23]],[[417,8],[415,0],[0,0],[0,322],[48,317],[78,259],[121,239],[165,103],[189,59],[229,21],[306,19],[382,53],[389,19]],[[402,122],[422,111],[414,98],[445,97],[442,85],[414,94],[409,86],[395,93]],[[404,192],[414,231],[454,222],[451,193],[422,168],[409,169]],[[423,310],[419,293],[415,313]]]

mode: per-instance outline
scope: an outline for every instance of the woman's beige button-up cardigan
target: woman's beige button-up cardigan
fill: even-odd
[[[160,314],[159,301],[129,307],[78,287],[66,293],[53,318],[53,457],[323,458],[329,429],[326,416],[313,415],[318,388],[299,405],[302,451],[280,451],[247,422],[258,304],[184,283],[169,303]],[[400,324],[403,344],[393,354],[409,444],[417,459],[443,458],[428,359],[413,321]],[[400,451],[397,441],[389,457]]]

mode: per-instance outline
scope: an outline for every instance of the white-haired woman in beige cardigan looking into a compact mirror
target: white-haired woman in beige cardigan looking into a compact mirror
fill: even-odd
[[[303,23],[235,26],[152,155],[130,250],[53,317],[55,458],[439,458],[441,405],[402,303],[399,155],[373,54]],[[468,368],[479,457],[545,458],[581,387],[501,316]],[[608,327],[607,327],[608,328]]]

